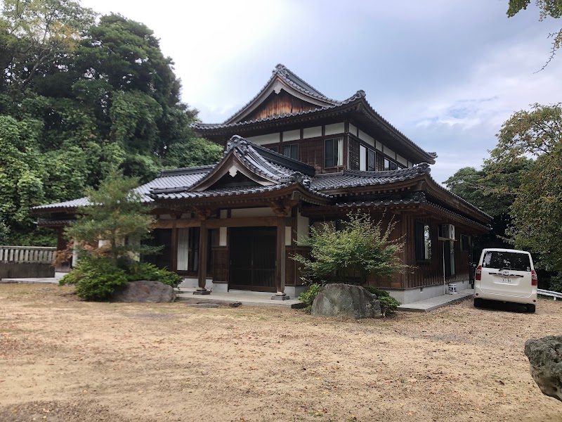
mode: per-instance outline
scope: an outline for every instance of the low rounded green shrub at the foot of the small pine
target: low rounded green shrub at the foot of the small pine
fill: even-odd
[[[60,285],[76,284],[76,294],[85,300],[107,300],[126,283],[124,270],[105,257],[93,255],[83,255],[78,267],[59,281]]]

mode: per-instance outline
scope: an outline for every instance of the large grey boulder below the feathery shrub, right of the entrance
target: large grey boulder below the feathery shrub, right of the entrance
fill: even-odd
[[[311,314],[318,316],[339,316],[361,319],[380,318],[381,304],[361,286],[351,284],[327,284],[316,296]]]

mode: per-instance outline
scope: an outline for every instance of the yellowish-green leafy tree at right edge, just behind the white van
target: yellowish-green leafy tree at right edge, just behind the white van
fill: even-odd
[[[562,271],[562,104],[518,111],[497,138],[488,160],[496,170],[534,158],[513,188],[506,236],[533,252],[541,267]]]

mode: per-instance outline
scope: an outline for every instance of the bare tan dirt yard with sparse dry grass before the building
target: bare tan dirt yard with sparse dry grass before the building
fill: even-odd
[[[536,314],[470,300],[391,319],[82,302],[0,285],[0,421],[561,421],[525,340]]]

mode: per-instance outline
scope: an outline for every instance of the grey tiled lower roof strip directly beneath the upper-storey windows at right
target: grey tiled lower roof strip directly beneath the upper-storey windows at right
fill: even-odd
[[[429,174],[429,172],[429,164],[425,162],[409,169],[386,172],[344,170],[344,172],[336,174],[318,174],[312,179],[311,188],[317,191],[330,191],[339,188],[391,184],[397,181],[413,179],[421,174]]]

